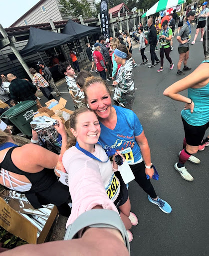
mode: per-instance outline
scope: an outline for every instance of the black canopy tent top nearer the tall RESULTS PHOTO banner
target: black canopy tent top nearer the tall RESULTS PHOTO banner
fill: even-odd
[[[86,26],[69,19],[63,28],[62,33],[73,35],[75,39],[80,39],[90,34],[101,33],[101,29],[98,26]]]

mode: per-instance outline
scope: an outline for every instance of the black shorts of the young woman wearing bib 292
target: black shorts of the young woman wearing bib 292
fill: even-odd
[[[126,187],[126,184],[124,183],[120,172],[116,171],[115,175],[117,176],[117,178],[120,181],[120,192],[119,192],[117,199],[114,201],[114,204],[120,213],[119,206],[123,205],[128,200],[129,194],[128,194],[128,189]]]

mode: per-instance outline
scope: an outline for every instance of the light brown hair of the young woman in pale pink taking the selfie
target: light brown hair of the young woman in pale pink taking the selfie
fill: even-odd
[[[76,130],[75,126],[77,124],[77,119],[79,114],[81,113],[85,113],[85,112],[94,112],[93,110],[91,110],[88,107],[81,107],[77,110],[75,110],[71,115],[70,115],[70,128],[73,128],[74,130]],[[68,143],[66,148],[69,148],[71,146],[74,146],[76,144],[76,137],[72,134],[72,132],[70,132],[69,138],[68,138]]]

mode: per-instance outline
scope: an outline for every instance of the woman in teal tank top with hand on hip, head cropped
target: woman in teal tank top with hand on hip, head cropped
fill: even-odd
[[[179,94],[186,89],[188,97]],[[181,112],[185,130],[184,145],[179,153],[179,162],[175,163],[174,167],[184,179],[193,181],[193,176],[185,168],[185,162],[190,160],[200,163],[193,154],[197,153],[209,127],[209,60],[203,61],[187,77],[169,86],[163,94],[185,102]]]

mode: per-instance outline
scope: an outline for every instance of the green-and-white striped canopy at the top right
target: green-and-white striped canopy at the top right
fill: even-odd
[[[155,14],[156,12],[159,12],[161,10],[169,9],[184,2],[185,0],[159,0],[147,12],[145,12],[142,15],[142,18]]]

